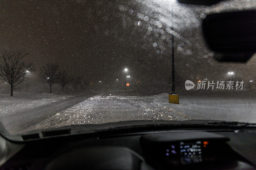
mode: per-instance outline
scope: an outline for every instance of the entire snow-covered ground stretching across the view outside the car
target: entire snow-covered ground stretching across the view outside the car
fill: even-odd
[[[99,95],[93,96],[90,92],[45,98],[42,94],[40,99],[5,98],[0,100],[0,119],[11,133],[129,120],[207,119],[256,123],[254,97],[180,96],[180,104],[177,105],[168,103],[167,93],[140,97],[93,93]]]

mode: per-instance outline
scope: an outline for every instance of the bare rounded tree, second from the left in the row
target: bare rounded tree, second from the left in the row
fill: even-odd
[[[47,83],[50,86],[50,93],[52,93],[52,85],[58,83],[59,70],[58,64],[47,63],[42,66],[38,71],[38,78],[40,81]]]

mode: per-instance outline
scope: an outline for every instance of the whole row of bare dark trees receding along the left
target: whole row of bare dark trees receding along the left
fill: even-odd
[[[35,65],[28,61],[28,52],[23,49],[0,50],[0,79],[11,85],[11,96],[13,96],[13,87],[28,80],[27,74],[35,72]],[[77,85],[81,84],[81,88],[88,85],[87,81],[82,81],[79,76],[71,78],[65,69],[61,69],[60,65],[55,63],[46,63],[37,70],[38,79],[47,83],[52,93],[52,85],[60,84],[62,91],[64,87],[72,83],[77,89]]]

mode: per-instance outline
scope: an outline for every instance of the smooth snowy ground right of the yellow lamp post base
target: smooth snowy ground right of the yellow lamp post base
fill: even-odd
[[[166,101],[162,99],[162,101]],[[161,101],[160,101],[161,102]],[[188,117],[256,123],[256,99],[180,97],[180,104],[166,103]]]

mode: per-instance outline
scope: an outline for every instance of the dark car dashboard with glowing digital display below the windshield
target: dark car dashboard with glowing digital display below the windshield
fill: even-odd
[[[15,144],[20,151],[1,169],[255,169],[255,132],[180,129],[54,137]]]

